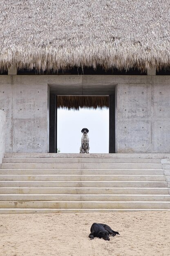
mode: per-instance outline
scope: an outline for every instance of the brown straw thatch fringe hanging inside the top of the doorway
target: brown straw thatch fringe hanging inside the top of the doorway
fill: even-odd
[[[108,96],[57,96],[57,108],[109,108]]]

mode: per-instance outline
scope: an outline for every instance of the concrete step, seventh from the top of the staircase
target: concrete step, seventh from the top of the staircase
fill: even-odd
[[[76,195],[89,195],[89,194],[133,194],[133,195],[169,195],[169,188],[130,188],[130,187],[0,187],[0,194],[76,194]]]

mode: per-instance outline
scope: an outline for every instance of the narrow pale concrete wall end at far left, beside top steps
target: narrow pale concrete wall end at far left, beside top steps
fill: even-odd
[[[0,110],[0,164],[5,152],[5,112]]]

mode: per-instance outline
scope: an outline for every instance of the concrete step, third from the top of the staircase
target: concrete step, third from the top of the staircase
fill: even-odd
[[[2,169],[162,169],[162,164],[1,164]]]

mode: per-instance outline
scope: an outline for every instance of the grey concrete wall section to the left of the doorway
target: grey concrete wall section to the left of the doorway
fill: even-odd
[[[48,152],[47,83],[24,76],[0,77],[0,108],[6,117],[6,152]]]

